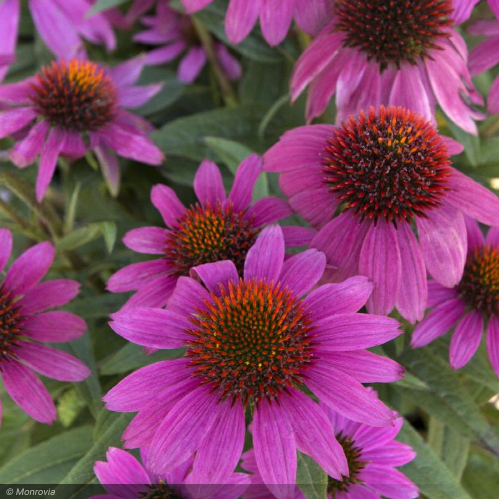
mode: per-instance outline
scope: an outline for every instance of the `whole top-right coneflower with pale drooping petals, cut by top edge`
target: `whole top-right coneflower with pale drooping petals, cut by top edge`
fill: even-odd
[[[467,68],[467,48],[452,28],[451,0],[336,0],[331,21],[298,59],[295,100],[309,85],[306,117],[336,94],[337,123],[369,106],[401,105],[433,120],[438,103],[464,130],[483,104]]]

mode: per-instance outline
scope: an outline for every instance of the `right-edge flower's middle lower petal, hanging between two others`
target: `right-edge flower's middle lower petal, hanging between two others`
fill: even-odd
[[[475,355],[484,329],[481,312],[472,310],[456,326],[449,348],[449,360],[453,369],[460,369],[468,364]]]

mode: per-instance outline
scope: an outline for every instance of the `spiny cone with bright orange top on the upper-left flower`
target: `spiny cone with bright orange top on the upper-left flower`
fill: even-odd
[[[90,61],[52,62],[36,75],[31,88],[36,111],[54,126],[90,132],[115,115],[116,87],[104,69]]]

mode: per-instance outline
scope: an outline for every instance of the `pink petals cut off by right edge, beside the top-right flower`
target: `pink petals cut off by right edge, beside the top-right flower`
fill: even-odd
[[[499,62],[499,21],[492,19],[477,21],[470,26],[469,32],[488,36],[470,53],[470,72],[476,75],[487,71]],[[499,76],[493,81],[489,90],[487,109],[493,114],[499,113]]]

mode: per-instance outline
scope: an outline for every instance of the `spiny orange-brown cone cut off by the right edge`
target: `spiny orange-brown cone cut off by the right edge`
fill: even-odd
[[[466,261],[458,286],[461,297],[474,309],[499,315],[499,250],[476,248]]]

